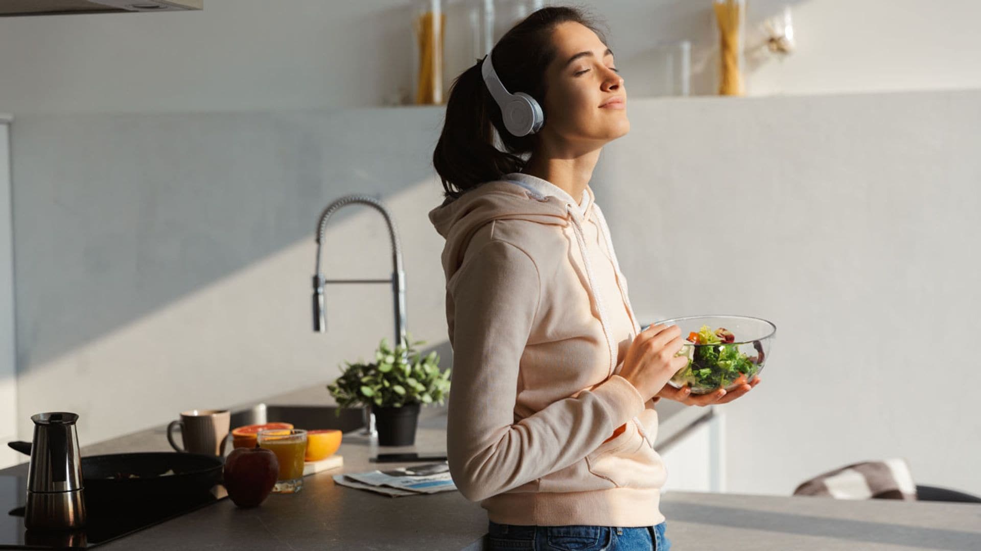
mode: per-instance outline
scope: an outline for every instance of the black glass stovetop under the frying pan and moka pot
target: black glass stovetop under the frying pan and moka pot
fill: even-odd
[[[28,531],[24,527],[26,488],[24,476],[0,476],[0,549],[91,548],[206,507],[226,496],[224,488],[218,486],[205,495],[152,503],[93,507],[86,499],[87,522],[83,529]]]

